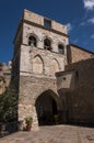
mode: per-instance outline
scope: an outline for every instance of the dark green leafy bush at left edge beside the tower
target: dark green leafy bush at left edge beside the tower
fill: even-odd
[[[17,90],[10,85],[0,96],[0,122],[11,122],[17,120]]]

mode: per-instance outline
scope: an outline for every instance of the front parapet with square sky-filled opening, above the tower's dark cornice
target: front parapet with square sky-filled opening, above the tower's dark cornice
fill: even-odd
[[[67,34],[67,26],[54,20],[36,14],[32,11],[24,10],[23,20],[37,24],[44,29],[55,30],[60,33]]]

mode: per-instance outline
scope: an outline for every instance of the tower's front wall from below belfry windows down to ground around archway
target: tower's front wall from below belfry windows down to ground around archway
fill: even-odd
[[[25,117],[31,114],[33,127],[37,127],[35,101],[47,90],[55,92],[54,98],[58,103],[58,110],[62,110],[55,76],[55,73],[59,70],[64,70],[64,55],[34,46],[21,45],[19,120],[24,120]]]

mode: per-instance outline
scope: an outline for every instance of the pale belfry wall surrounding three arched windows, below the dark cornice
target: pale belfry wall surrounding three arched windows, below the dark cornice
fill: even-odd
[[[63,44],[64,46],[64,55],[67,54],[68,37],[64,35],[57,34],[49,30],[40,29],[38,26],[24,23],[23,25],[23,44],[28,45],[28,36],[34,35],[37,40],[37,47],[44,48],[44,40],[47,37],[51,41],[51,51],[58,52],[58,44]]]

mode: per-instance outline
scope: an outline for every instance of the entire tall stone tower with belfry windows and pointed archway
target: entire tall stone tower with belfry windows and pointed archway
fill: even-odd
[[[62,110],[56,72],[67,64],[67,26],[24,10],[14,38],[13,80],[19,89],[19,120],[50,124]]]

